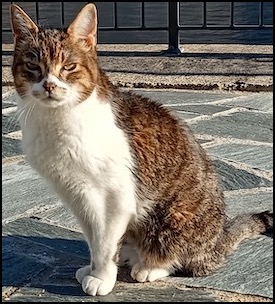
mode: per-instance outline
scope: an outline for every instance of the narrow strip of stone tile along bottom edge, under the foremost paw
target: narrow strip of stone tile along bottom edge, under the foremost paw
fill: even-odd
[[[152,284],[139,284],[138,287],[117,285],[103,297],[79,294],[80,287],[64,286],[58,292],[48,292],[43,288],[20,288],[10,300],[12,302],[216,302],[207,291],[179,290],[173,286],[150,287]],[[48,289],[48,288],[47,288]],[[63,291],[63,293],[62,293]],[[65,294],[64,294],[65,293]]]

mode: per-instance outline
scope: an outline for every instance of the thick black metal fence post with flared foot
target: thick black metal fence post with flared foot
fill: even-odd
[[[168,50],[164,55],[180,55],[179,48],[179,2],[168,2]]]

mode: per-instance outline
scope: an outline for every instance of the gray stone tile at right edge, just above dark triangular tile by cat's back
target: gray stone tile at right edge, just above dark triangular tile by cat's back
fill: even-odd
[[[273,169],[273,147],[248,144],[221,144],[208,148],[210,154],[249,165],[254,169]]]

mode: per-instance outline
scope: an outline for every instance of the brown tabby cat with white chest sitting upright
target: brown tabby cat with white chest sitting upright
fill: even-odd
[[[138,282],[203,276],[273,224],[265,211],[228,220],[214,166],[167,108],[119,90],[97,63],[97,11],[43,29],[11,5],[12,73],[23,150],[83,230],[89,295],[112,291],[120,257]]]

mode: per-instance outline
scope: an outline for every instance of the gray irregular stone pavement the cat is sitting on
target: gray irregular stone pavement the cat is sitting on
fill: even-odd
[[[213,158],[230,217],[272,210],[273,95],[268,92],[141,90],[188,121]],[[121,268],[113,292],[84,295],[74,279],[88,263],[78,224],[24,161],[12,91],[2,96],[2,301],[272,302],[273,238],[242,242],[203,278],[136,283]]]

